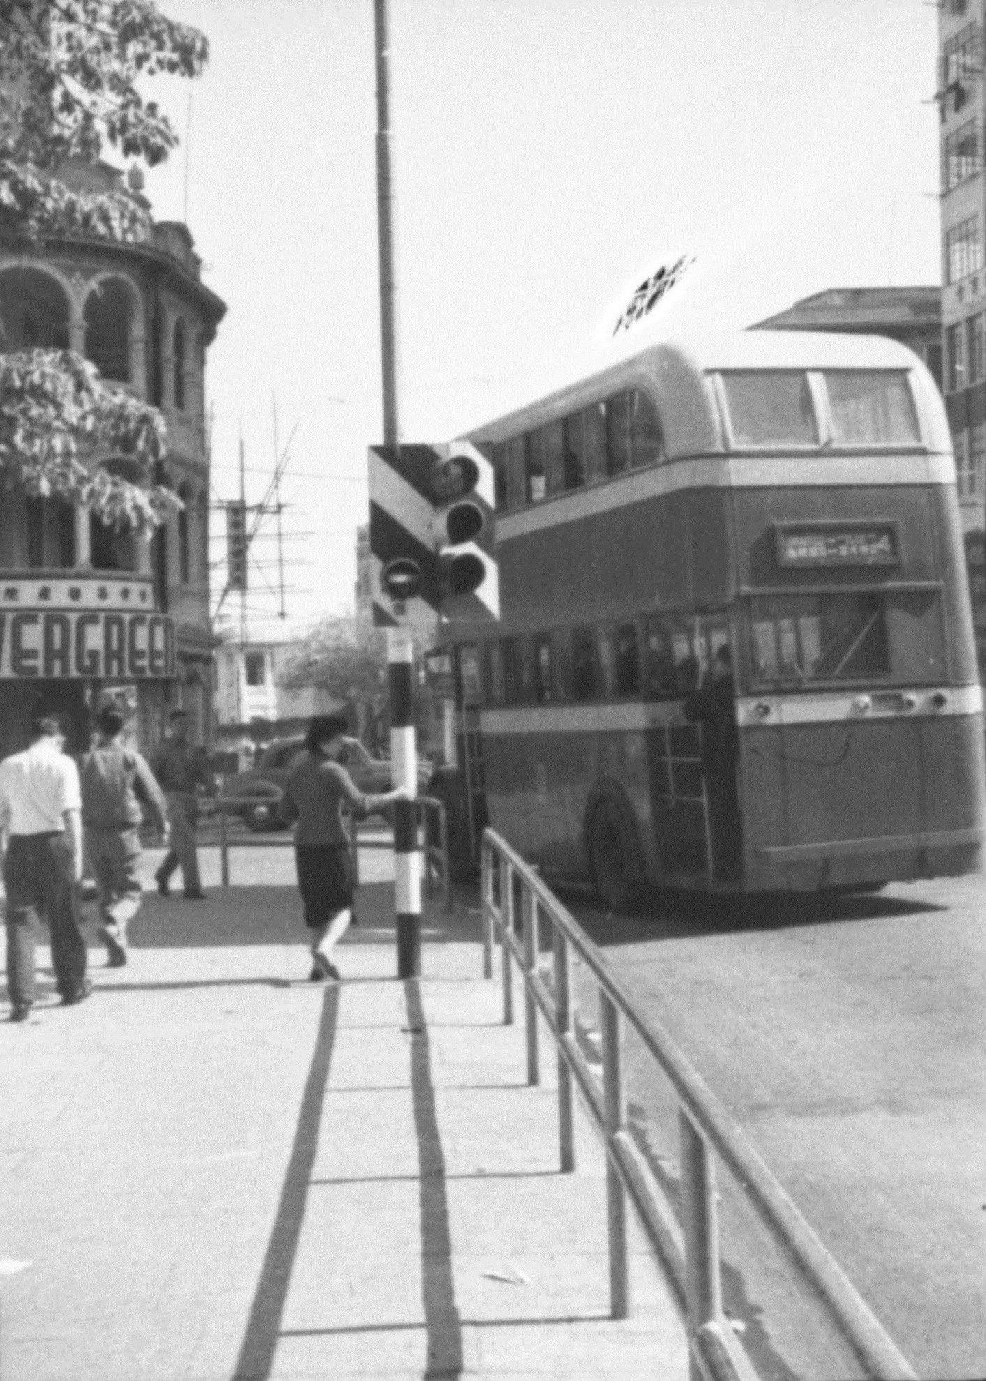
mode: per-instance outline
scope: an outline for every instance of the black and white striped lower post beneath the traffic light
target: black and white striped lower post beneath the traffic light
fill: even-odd
[[[394,902],[398,920],[398,978],[421,975],[421,866],[413,797],[417,791],[414,743],[414,648],[407,628],[387,630],[391,692],[391,771],[394,787],[412,800],[394,804]]]

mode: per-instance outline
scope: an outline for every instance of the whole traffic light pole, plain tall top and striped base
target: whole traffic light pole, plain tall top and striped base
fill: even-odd
[[[380,348],[384,381],[384,445],[400,446],[400,349],[396,271],[396,192],[391,130],[389,0],[374,0],[377,52],[377,233],[380,249]],[[387,630],[387,679],[391,699],[391,773],[395,787],[417,791],[413,710],[414,650],[406,627]],[[394,805],[394,902],[398,978],[421,974],[421,874],[413,801]]]

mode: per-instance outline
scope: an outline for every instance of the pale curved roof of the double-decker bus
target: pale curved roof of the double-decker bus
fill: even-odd
[[[732,369],[918,369],[906,345],[885,336],[835,331],[731,331],[681,337],[652,345],[597,374],[580,378],[525,407],[465,434],[468,441],[505,441],[577,407],[646,381],[661,412],[668,457],[717,450],[718,417],[706,376]]]

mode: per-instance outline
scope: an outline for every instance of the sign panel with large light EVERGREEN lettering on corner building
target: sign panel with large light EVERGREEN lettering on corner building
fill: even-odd
[[[175,675],[174,620],[163,613],[0,612],[0,679],[127,681]]]

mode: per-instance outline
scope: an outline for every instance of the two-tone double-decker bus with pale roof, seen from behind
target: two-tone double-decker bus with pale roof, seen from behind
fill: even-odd
[[[877,337],[655,345],[474,431],[501,619],[454,626],[489,820],[613,909],[980,866],[982,692],[942,400]]]

